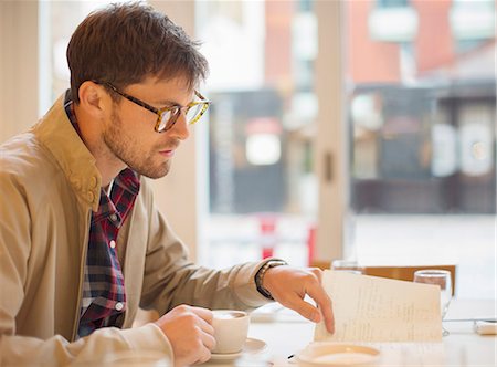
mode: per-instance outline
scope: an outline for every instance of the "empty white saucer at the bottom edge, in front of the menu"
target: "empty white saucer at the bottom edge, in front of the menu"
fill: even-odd
[[[363,345],[313,343],[297,355],[303,366],[364,366],[380,356],[380,350]]]

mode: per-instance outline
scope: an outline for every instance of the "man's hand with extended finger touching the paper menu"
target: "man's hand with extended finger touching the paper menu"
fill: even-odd
[[[318,268],[295,269],[281,265],[266,271],[262,285],[271,292],[275,301],[295,310],[311,322],[320,322],[322,314],[326,328],[332,334],[334,311],[331,300],[321,285],[321,277],[322,271]],[[304,301],[306,294],[316,301],[317,307]]]

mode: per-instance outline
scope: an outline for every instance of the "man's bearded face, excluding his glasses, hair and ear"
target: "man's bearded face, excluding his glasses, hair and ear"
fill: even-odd
[[[127,86],[123,92],[157,108],[184,106],[193,96],[182,78],[147,78],[142,83]],[[159,134],[154,129],[156,122],[156,114],[120,98],[118,104],[113,104],[102,132],[108,153],[140,175],[150,178],[166,176],[176,149],[189,136],[188,125],[181,114],[172,128]]]

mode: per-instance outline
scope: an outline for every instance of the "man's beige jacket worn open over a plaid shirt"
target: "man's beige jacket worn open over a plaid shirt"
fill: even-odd
[[[141,178],[118,237],[127,311],[123,329],[75,342],[92,210],[99,202],[95,159],[60,98],[28,133],[0,147],[0,366],[66,365],[105,352],[171,346],[155,324],[129,328],[138,306],[163,314],[179,304],[253,308],[261,263],[223,271],[193,265]]]

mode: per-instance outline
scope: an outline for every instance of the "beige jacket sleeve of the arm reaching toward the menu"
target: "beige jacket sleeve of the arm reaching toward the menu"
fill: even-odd
[[[146,181],[142,181],[146,184]],[[154,205],[142,185],[148,244],[140,306],[163,314],[179,304],[208,308],[253,310],[269,302],[258,293],[254,276],[266,262],[248,262],[224,270],[194,265],[188,251]]]

